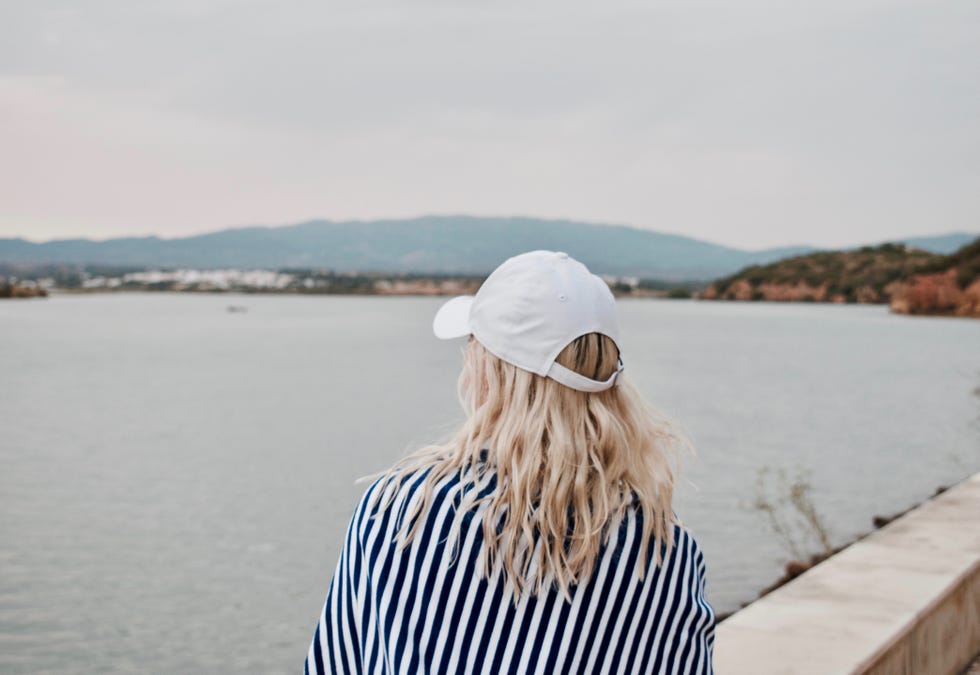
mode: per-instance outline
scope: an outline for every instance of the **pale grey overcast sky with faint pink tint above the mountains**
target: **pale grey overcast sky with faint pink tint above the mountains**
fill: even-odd
[[[8,0],[0,237],[980,231],[976,0]]]

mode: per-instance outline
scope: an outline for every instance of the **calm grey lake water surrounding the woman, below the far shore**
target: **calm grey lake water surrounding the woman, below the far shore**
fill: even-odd
[[[354,480],[461,420],[440,302],[0,303],[0,672],[298,671]],[[789,557],[753,508],[780,470],[839,544],[980,469],[980,321],[657,300],[620,318],[626,373],[697,447],[676,508],[719,612]]]

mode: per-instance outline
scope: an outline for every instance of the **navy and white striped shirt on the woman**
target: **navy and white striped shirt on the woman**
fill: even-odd
[[[691,534],[674,529],[675,546],[657,567],[637,574],[642,515],[630,508],[602,547],[587,582],[525,593],[482,569],[485,504],[456,509],[495,488],[442,479],[416,536],[394,541],[403,512],[421,496],[426,470],[361,498],[347,530],[306,658],[306,673],[462,675],[476,673],[711,673],[715,616],[704,594],[705,565]],[[379,490],[397,491],[379,509]],[[382,500],[383,503],[383,500]],[[635,504],[635,502],[634,502]],[[374,516],[374,517],[371,517]],[[653,543],[648,560],[653,560]]]

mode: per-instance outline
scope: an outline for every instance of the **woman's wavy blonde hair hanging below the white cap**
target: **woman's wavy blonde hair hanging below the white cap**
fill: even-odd
[[[589,333],[556,360],[604,380],[618,359],[610,338]],[[624,375],[611,389],[585,393],[503,361],[471,337],[458,382],[466,422],[447,443],[424,447],[384,474],[391,479],[428,470],[421,498],[405,510],[396,540],[407,546],[416,535],[423,521],[417,516],[426,512],[443,478],[479,480],[493,471],[495,489],[482,498],[478,490],[469,491],[454,531],[458,537],[462,515],[486,503],[483,573],[502,571],[515,601],[525,590],[537,594],[552,582],[568,598],[571,586],[591,576],[613,524],[634,500],[642,512],[642,579],[651,540],[657,565],[662,550],[673,546],[677,446],[688,443]],[[390,504],[395,492],[375,494],[387,493]]]

